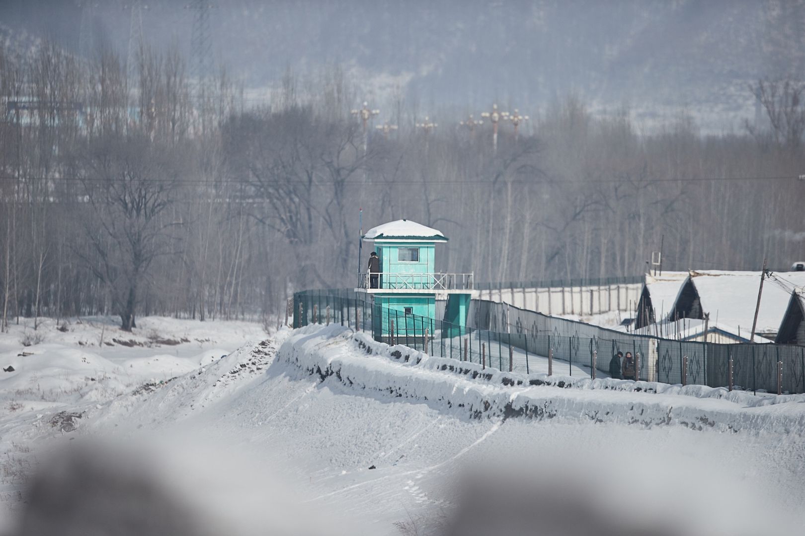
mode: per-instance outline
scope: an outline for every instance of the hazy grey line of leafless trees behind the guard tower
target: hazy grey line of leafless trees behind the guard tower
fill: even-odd
[[[340,68],[289,69],[267,100],[175,49],[87,61],[0,47],[0,321],[143,314],[275,321],[302,288],[353,286],[364,231],[439,228],[437,268],[476,280],[759,269],[801,260],[805,84],[759,80],[766,127],[703,135],[679,113],[651,133],[579,96],[515,137],[394,92],[382,131],[350,113]],[[134,73],[131,76],[130,73]],[[130,80],[133,78],[133,80]],[[449,121],[448,121],[449,120]],[[454,120],[454,121],[452,121]],[[452,123],[451,123],[452,121]],[[268,320],[266,320],[268,321]]]

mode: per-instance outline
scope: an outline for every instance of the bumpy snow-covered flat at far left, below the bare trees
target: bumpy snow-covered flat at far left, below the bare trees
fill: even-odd
[[[0,333],[0,503],[22,498],[43,442],[125,424],[122,415],[177,378],[266,337],[262,325],[245,321],[144,317],[138,325],[128,333],[109,317],[21,319]],[[221,386],[236,381],[228,375]]]

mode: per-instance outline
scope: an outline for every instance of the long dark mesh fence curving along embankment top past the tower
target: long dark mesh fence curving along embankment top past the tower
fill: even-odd
[[[375,305],[353,289],[295,293],[292,307],[295,328],[341,324],[380,342],[502,371],[609,377],[620,351],[634,356],[638,380],[805,392],[805,346],[675,341],[483,300],[471,301],[468,325],[456,325]]]

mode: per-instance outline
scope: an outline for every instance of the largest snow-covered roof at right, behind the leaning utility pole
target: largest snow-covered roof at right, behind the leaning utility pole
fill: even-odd
[[[719,324],[752,329],[760,272],[691,271],[691,281],[704,313]],[[774,272],[763,284],[757,333],[776,333],[791,291],[805,286],[805,272]]]

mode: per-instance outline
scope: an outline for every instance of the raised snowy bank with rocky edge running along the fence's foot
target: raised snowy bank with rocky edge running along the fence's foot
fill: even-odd
[[[341,326],[292,333],[274,366],[359,395],[427,403],[458,417],[568,419],[721,432],[805,432],[805,395],[755,397],[723,388],[592,380],[483,369],[374,342]]]

